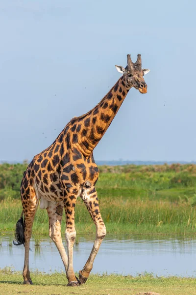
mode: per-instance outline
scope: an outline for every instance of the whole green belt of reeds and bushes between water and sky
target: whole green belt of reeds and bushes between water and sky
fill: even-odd
[[[1,232],[14,231],[20,217],[20,182],[26,166],[26,163],[0,165]],[[99,169],[96,188],[109,234],[195,235],[196,165],[101,166]],[[95,232],[80,198],[75,215],[78,234]],[[33,233],[48,234],[46,210],[37,210]]]

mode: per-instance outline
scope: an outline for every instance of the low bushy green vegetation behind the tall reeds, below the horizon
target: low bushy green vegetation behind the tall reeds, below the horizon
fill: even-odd
[[[20,199],[20,184],[27,163],[0,165],[0,200]],[[196,193],[196,165],[100,166],[96,188],[100,198],[162,198]],[[169,190],[169,191],[168,191]]]

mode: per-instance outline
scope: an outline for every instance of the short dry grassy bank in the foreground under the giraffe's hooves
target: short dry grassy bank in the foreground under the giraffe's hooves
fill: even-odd
[[[137,277],[121,275],[91,275],[85,285],[77,288],[67,287],[63,273],[32,273],[34,285],[22,285],[20,272],[9,269],[0,270],[0,294],[37,295],[136,295],[142,292],[156,292],[160,295],[192,295],[196,290],[196,279],[177,277],[153,277],[150,274]]]

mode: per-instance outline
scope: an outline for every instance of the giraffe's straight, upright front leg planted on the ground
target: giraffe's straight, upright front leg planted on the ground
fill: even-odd
[[[75,277],[73,271],[73,244],[75,241],[75,222],[74,222],[74,215],[75,215],[75,202],[76,202],[76,195],[73,195],[71,192],[66,193],[64,197],[64,207],[65,207],[65,214],[66,214],[66,231],[65,237],[67,242],[67,249],[68,249],[68,268],[67,268],[67,279],[68,279],[68,286],[69,287],[77,287],[80,285],[80,282],[77,277]]]

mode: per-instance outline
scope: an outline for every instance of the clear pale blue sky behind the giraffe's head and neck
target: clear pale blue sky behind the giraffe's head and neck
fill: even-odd
[[[0,1],[0,160],[47,148],[142,54],[147,94],[131,89],[97,160],[196,161],[196,2]]]

